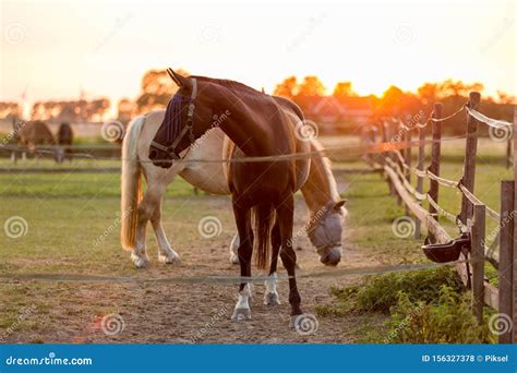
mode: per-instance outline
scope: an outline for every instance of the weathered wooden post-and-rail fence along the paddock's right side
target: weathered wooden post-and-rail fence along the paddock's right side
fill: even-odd
[[[411,167],[411,147],[406,148],[388,148],[380,157],[368,158],[369,163],[374,167],[384,168],[386,179],[389,184],[392,194],[397,196],[399,204],[406,206],[407,215],[414,215],[417,218],[417,229],[414,237],[420,238],[420,225],[428,228],[430,242],[436,242],[443,245],[449,245],[454,241],[446,233],[445,229],[440,225],[438,217],[442,216],[456,225],[460,233],[468,234],[470,239],[470,251],[464,253],[465,262],[456,263],[464,284],[472,290],[472,312],[481,323],[483,320],[483,304],[488,304],[500,312],[505,312],[513,320],[517,320],[517,299],[514,300],[513,294],[517,288],[517,278],[512,270],[508,272],[508,258],[514,255],[514,240],[508,239],[508,231],[513,231],[513,210],[514,205],[502,201],[502,212],[486,206],[484,202],[476,196],[474,178],[476,178],[476,157],[478,147],[478,124],[484,123],[494,130],[504,130],[512,134],[514,124],[503,120],[496,120],[486,117],[478,110],[480,104],[480,95],[471,93],[469,101],[454,113],[442,117],[442,105],[435,104],[433,112],[420,123],[407,125],[400,120],[384,120],[372,127],[370,134],[365,136],[369,143],[376,142],[376,129],[382,129],[382,142],[396,141],[410,143],[413,132],[418,132],[420,146],[418,155],[418,166]],[[441,161],[441,124],[460,112],[466,112],[467,131],[466,131],[466,152],[464,159],[464,172],[459,180],[449,180],[440,176]],[[432,149],[431,165],[424,168],[425,144],[428,127],[432,132]],[[428,131],[429,132],[429,131]],[[512,141],[512,136],[508,136]],[[508,146],[509,143],[508,143]],[[508,152],[507,152],[508,154]],[[417,177],[417,186],[410,182],[411,176]],[[423,179],[429,180],[429,191],[424,193]],[[504,183],[502,190],[504,192]],[[512,185],[514,182],[512,181]],[[461,195],[461,209],[456,215],[438,204],[438,186],[456,189]],[[506,188],[508,189],[508,188]],[[508,200],[513,196],[513,190],[502,193],[502,198]],[[421,204],[423,201],[429,203],[429,209],[425,210]],[[513,200],[512,200],[513,202]],[[504,210],[506,208],[506,210]],[[498,226],[496,236],[490,246],[485,241],[485,216],[495,220]],[[496,248],[500,246],[500,254]],[[517,254],[516,254],[517,255]],[[504,262],[501,260],[504,257]],[[517,256],[516,256],[517,258]],[[484,261],[488,261],[498,273],[498,288],[489,284],[484,277]],[[514,262],[512,260],[512,262]],[[508,301],[509,300],[509,301]],[[508,342],[517,341],[517,333],[505,333],[500,337],[500,341]]]

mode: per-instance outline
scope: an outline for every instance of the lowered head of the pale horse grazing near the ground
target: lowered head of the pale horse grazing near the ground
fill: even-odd
[[[341,260],[345,203],[346,200],[329,202],[309,222],[309,239],[325,265],[337,265]]]

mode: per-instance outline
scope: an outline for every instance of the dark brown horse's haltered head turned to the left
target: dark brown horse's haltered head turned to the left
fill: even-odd
[[[167,106],[164,121],[151,142],[149,159],[155,166],[169,168],[209,128],[213,106],[208,82],[184,77],[171,69],[169,76],[179,86]]]

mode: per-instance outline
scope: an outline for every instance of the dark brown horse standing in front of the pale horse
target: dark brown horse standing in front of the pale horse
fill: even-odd
[[[266,267],[272,251],[272,281],[276,279],[278,254],[287,269],[291,321],[294,322],[302,311],[294,269],[297,256],[291,245],[293,194],[305,183],[310,157],[275,158],[310,152],[310,143],[297,136],[301,110],[294,104],[296,110],[280,106],[270,96],[241,83],[204,76],[188,79],[172,70],[169,74],[180,89],[170,100],[164,122],[151,143],[149,158],[155,166],[171,167],[175,159],[184,157],[194,141],[211,129],[214,116],[226,113],[226,120],[219,125],[233,142],[227,154],[232,163],[227,165],[226,173],[239,232],[242,277],[232,318],[251,317],[250,286],[245,280],[251,277],[256,234],[258,268]],[[243,157],[270,158],[250,163],[240,160]]]

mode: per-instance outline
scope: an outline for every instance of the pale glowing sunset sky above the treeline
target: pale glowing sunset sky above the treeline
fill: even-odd
[[[515,95],[515,16],[513,1],[2,1],[0,99],[134,98],[169,65],[268,92],[315,74],[360,94],[453,77]]]

